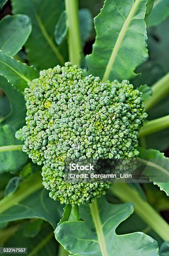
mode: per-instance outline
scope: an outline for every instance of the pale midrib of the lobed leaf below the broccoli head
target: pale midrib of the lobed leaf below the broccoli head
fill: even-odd
[[[95,200],[91,205],[89,205],[89,207],[90,207],[90,212],[94,222],[94,226],[96,229],[100,250],[102,252],[102,255],[108,256],[109,254],[107,253],[106,242],[105,242],[104,233],[102,229],[102,223],[99,216],[99,207],[97,205],[97,200]]]

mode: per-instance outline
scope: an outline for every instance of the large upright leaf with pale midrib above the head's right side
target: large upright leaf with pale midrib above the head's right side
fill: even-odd
[[[148,57],[144,16],[147,0],[106,0],[94,18],[96,41],[86,57],[89,74],[107,79],[131,79]]]

